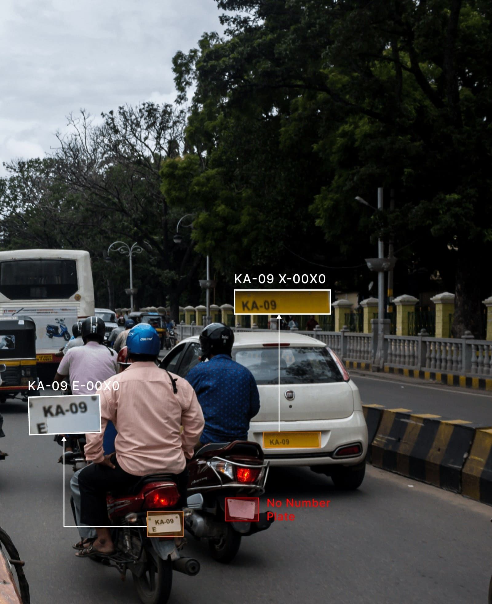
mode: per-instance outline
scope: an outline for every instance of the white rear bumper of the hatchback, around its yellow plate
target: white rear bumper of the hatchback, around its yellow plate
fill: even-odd
[[[251,422],[250,425],[249,440],[261,445],[270,466],[353,466],[359,464],[367,453],[367,425],[362,411],[354,411],[351,416],[343,419],[280,422],[280,432],[321,432],[321,447],[316,449],[264,448],[263,432],[277,431],[278,422]],[[361,443],[360,455],[341,459],[331,457],[340,446],[351,443]]]

